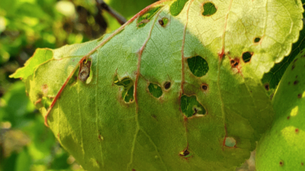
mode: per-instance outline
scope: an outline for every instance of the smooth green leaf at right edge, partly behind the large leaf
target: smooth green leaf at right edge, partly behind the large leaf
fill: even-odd
[[[305,49],[289,65],[273,96],[276,117],[258,144],[256,169],[304,170]]]

